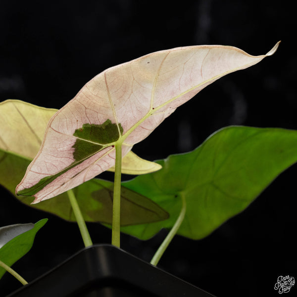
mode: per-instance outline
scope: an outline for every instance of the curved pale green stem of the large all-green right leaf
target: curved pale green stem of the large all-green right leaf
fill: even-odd
[[[170,232],[168,233],[168,235],[166,236],[166,238],[164,239],[164,241],[162,242],[162,244],[160,245],[160,247],[158,248],[158,250],[156,251],[156,253],[154,254],[154,256],[152,257],[150,264],[152,265],[157,265],[161,256],[163,255],[164,251],[166,250],[166,248],[168,247],[168,245],[170,244],[170,242],[172,241],[173,237],[176,235],[179,227],[181,226],[184,218],[185,218],[185,214],[186,214],[186,198],[184,196],[183,193],[181,194],[181,198],[182,198],[182,209],[181,212],[175,222],[175,224],[173,225],[172,229],[170,230]]]

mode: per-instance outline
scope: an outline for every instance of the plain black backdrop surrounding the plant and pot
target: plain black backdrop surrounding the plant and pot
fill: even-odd
[[[202,90],[133,150],[165,158],[228,125],[297,129],[295,8],[273,3],[1,0],[0,101],[60,108],[99,72],[156,50],[221,44],[258,55],[282,40],[272,57]],[[297,278],[296,173],[296,165],[289,168],[207,238],[176,237],[159,267],[217,297],[278,296],[279,275]],[[49,218],[13,266],[28,281],[83,248],[74,223],[21,205],[3,189],[0,199],[0,226]],[[110,243],[109,229],[88,227],[94,243]],[[122,248],[149,261],[165,235],[147,242],[123,235]],[[0,296],[19,286],[6,273]],[[288,296],[296,292],[297,286]]]

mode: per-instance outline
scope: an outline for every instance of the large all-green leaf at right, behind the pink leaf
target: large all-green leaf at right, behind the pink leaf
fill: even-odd
[[[247,206],[286,168],[297,161],[297,131],[227,127],[185,154],[157,161],[163,168],[122,185],[145,194],[170,214],[169,219],[121,230],[146,240],[172,228],[186,198],[186,216],[178,234],[209,235]]]

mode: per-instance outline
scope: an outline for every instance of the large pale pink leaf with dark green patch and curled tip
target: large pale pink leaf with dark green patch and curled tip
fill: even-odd
[[[90,180],[114,165],[115,144],[125,155],[204,87],[277,47],[260,56],[226,46],[176,48],[103,71],[51,118],[17,195],[37,203]]]

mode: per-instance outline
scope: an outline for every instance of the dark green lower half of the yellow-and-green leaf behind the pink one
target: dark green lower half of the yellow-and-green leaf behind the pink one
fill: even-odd
[[[0,149],[0,184],[18,200],[28,206],[53,213],[64,220],[76,221],[69,202],[68,194],[31,204],[33,197],[15,195],[15,187],[26,171],[30,161],[21,156]],[[93,179],[74,189],[77,202],[87,222],[112,222],[113,183]],[[121,189],[121,225],[155,222],[168,218],[168,213],[152,200],[122,187]]]

